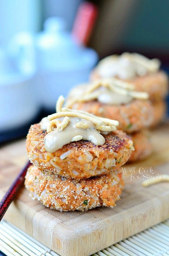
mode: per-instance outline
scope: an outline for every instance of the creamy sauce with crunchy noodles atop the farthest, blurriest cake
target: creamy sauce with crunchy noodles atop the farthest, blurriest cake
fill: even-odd
[[[97,72],[102,77],[117,76],[120,79],[134,79],[159,70],[158,59],[148,59],[136,53],[123,53],[120,56],[112,55],[98,63]]]

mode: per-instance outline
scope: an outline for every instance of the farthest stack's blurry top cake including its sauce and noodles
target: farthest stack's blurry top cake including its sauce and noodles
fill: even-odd
[[[136,53],[111,55],[102,59],[91,73],[91,81],[117,77],[132,82],[137,91],[146,91],[150,100],[159,100],[168,94],[168,76],[159,70],[158,59],[148,59]]]

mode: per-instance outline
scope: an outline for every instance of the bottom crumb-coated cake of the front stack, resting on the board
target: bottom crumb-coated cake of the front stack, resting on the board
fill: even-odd
[[[32,199],[41,201],[50,209],[87,211],[98,206],[116,205],[124,181],[120,168],[100,177],[76,180],[30,166],[25,186]]]

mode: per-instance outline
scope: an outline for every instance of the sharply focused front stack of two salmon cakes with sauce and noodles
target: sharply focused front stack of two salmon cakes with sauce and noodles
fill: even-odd
[[[30,127],[25,186],[32,199],[60,211],[113,207],[124,187],[121,166],[134,150],[119,122],[63,108]]]

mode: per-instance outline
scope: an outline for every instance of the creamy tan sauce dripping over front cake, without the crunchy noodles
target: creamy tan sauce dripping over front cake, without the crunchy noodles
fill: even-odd
[[[62,122],[64,117],[57,118]],[[49,124],[47,117],[43,118],[41,121],[41,129],[46,130],[47,125]],[[82,129],[76,127],[76,124],[80,122],[87,125],[87,129]],[[100,134],[100,131],[95,129],[94,123],[88,120],[80,119],[77,117],[70,117],[68,125],[62,130],[57,131],[54,129],[49,132],[44,139],[45,149],[49,153],[53,153],[64,145],[78,140],[87,140],[92,142],[95,145],[103,145],[105,143],[105,138]]]

